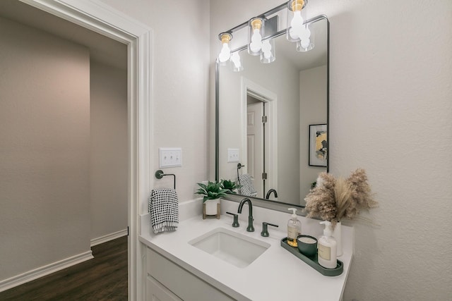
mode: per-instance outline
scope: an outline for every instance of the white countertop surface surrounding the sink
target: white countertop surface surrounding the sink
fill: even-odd
[[[302,219],[304,217],[300,216],[300,220]],[[252,233],[246,232],[245,221],[240,221],[239,228],[232,228],[232,216],[228,214],[222,215],[221,219],[205,220],[201,215],[195,216],[181,221],[177,231],[157,235],[150,231],[149,223],[143,222],[142,225],[139,237],[141,242],[238,300],[329,301],[342,298],[352,260],[351,227],[343,226],[343,255],[338,257],[344,264],[343,274],[331,277],[323,276],[280,246],[281,238],[287,236],[287,233],[278,230],[285,231],[286,225],[280,225],[278,230],[269,226],[268,238],[261,236],[261,223],[256,221],[255,232]],[[189,245],[190,240],[218,227],[268,242],[270,247],[249,266],[239,268]],[[303,233],[317,236],[316,233]]]

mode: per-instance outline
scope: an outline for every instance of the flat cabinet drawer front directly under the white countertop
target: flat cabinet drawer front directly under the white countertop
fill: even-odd
[[[149,248],[146,262],[148,275],[184,301],[235,300]]]

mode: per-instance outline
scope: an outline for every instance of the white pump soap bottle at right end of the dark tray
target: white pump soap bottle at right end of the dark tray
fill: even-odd
[[[325,225],[323,235],[319,238],[318,262],[326,269],[335,269],[338,265],[336,260],[337,242],[331,233],[331,221],[321,221]]]

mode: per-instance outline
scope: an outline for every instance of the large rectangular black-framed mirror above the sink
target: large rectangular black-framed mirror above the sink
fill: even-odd
[[[249,174],[254,197],[296,206],[304,206],[318,174],[328,171],[330,152],[328,19],[307,23],[314,49],[297,51],[280,30],[271,37],[275,61],[261,63],[242,47],[244,70],[217,65],[216,78],[215,180]]]

